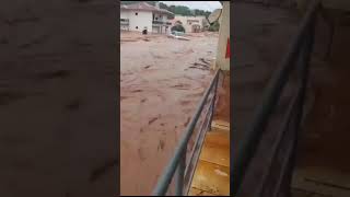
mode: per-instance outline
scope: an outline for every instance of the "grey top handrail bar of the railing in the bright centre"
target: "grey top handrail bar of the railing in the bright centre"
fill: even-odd
[[[218,77],[219,77],[219,70],[217,70],[213,80],[211,81],[209,88],[207,89],[205,95],[202,96],[202,99],[199,102],[199,105],[197,106],[197,109],[195,112],[195,115],[192,116],[190,123],[188,124],[188,126],[186,127],[186,130],[184,132],[184,135],[182,136],[180,140],[179,140],[179,144],[176,147],[175,149],[175,154],[174,157],[171,159],[168,165],[165,167],[164,173],[162,174],[162,176],[160,177],[155,189],[153,190],[153,196],[163,196],[165,195],[168,185],[172,182],[172,178],[174,176],[174,173],[176,171],[176,167],[179,163],[180,157],[183,154],[184,151],[186,151],[186,147],[188,143],[188,140],[190,139],[190,136],[194,132],[195,126],[198,121],[199,115],[202,112],[202,108],[206,104],[206,101],[208,99],[208,95],[210,94],[210,91],[212,90],[213,85],[218,82]]]

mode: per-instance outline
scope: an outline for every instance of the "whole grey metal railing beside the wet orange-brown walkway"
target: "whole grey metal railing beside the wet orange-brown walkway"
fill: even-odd
[[[197,125],[197,121],[200,117],[200,115],[203,112],[206,103],[209,101],[210,106],[208,108],[207,114],[205,114],[205,119],[208,119],[207,124],[202,124],[201,129],[198,132],[196,144],[192,151],[192,154],[190,157],[190,162],[196,163],[198,161],[198,154],[196,154],[196,150],[200,150],[202,143],[203,143],[203,136],[206,135],[208,127],[211,125],[211,120],[213,117],[213,112],[214,112],[214,105],[215,105],[215,100],[217,100],[217,89],[218,89],[218,83],[219,83],[219,76],[220,76],[220,69],[215,71],[214,78],[212,79],[209,88],[205,92],[203,96],[201,97],[199,105],[197,106],[197,109],[191,117],[188,126],[186,127],[184,135],[182,136],[178,146],[175,149],[174,157],[171,159],[168,165],[165,167],[163,174],[159,178],[159,182],[153,190],[153,196],[164,196],[166,195],[168,187],[172,183],[172,179],[175,175],[176,172],[176,179],[175,179],[175,195],[176,196],[183,196],[184,194],[188,193],[188,185],[190,184],[190,179],[194,175],[194,171],[190,167],[190,165],[186,166],[186,153],[187,153],[187,147],[188,142],[194,134],[195,127]],[[208,100],[210,93],[213,91],[213,95],[211,96],[211,101]],[[197,151],[198,152],[198,151]],[[188,183],[185,183],[185,177],[186,181],[189,181]]]

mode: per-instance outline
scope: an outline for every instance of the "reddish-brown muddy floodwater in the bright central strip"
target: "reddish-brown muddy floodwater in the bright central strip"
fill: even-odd
[[[218,34],[120,35],[121,195],[150,195],[213,71]]]

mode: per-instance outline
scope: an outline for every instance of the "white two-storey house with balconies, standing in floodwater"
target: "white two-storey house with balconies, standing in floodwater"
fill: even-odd
[[[147,2],[122,4],[120,5],[120,30],[142,32],[147,28],[152,33],[166,33],[171,26],[168,15],[174,14]]]

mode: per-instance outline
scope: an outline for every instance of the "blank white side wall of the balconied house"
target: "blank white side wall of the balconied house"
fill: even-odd
[[[138,15],[135,13],[138,13]],[[148,31],[152,31],[152,12],[130,11],[129,20],[130,31],[142,32],[144,27],[147,27]],[[136,28],[137,26],[138,28]]]

